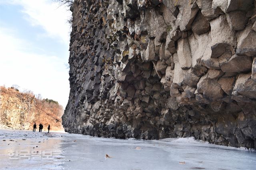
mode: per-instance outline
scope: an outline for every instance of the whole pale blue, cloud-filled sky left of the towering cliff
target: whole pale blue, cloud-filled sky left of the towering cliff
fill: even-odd
[[[68,19],[51,0],[0,0],[0,86],[68,102]]]

